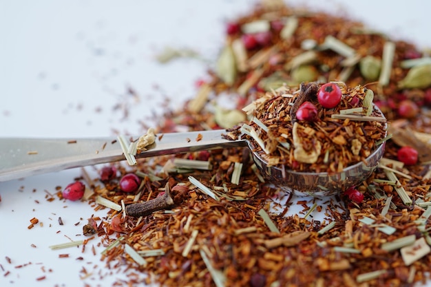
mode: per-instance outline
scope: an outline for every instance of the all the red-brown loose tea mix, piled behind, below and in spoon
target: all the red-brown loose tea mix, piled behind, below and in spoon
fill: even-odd
[[[379,167],[367,180],[333,198],[294,203],[291,195],[264,181],[249,149],[142,159],[132,167],[107,165],[99,178],[85,180],[91,192],[84,195],[95,209],[106,209],[107,217],[89,218],[84,234],[97,235],[106,246],[101,257],[107,268],[127,266],[129,281],[118,284],[128,286],[143,281],[253,287],[425,284],[431,271],[431,153],[425,132],[430,131],[431,120],[423,106],[431,102],[430,69],[429,56],[410,43],[392,41],[346,18],[297,12],[279,1],[264,1],[228,24],[226,45],[217,69],[210,72],[211,80],[202,83],[196,98],[183,109],[167,111],[155,129],[156,142],[178,126],[230,128],[222,119],[230,118],[231,126],[242,122],[243,107],[279,87],[295,94],[291,87],[302,82],[305,89],[299,93],[320,83],[344,82],[349,87],[344,94],[350,96],[341,98],[340,108],[317,109],[315,116],[333,119],[341,107],[355,109],[357,96],[363,110],[355,112],[381,117],[369,103],[364,105],[366,91],[375,91],[374,103],[390,120],[392,134]],[[223,93],[238,101],[238,109],[218,116],[211,100]],[[266,102],[266,114],[259,120],[271,127],[271,136],[261,138],[279,142],[283,134],[294,133],[293,126],[272,127],[270,115],[287,116],[283,113],[295,103],[289,105],[292,98],[281,93],[271,99],[278,101],[275,106],[285,103],[286,109],[273,111],[271,100]],[[326,105],[333,105],[332,100]],[[293,125],[314,127],[317,121],[304,122],[313,114],[309,105],[295,112]],[[384,137],[380,122],[354,122],[352,130],[345,128],[350,127],[347,122],[353,120],[328,120],[328,130],[315,127],[317,138],[325,135],[332,142],[320,144],[322,158],[299,162],[297,168],[309,170],[315,164],[316,170],[338,170],[349,164],[345,160],[350,157],[353,161],[366,157]],[[339,134],[341,130],[344,134]],[[304,150],[317,149],[309,133],[297,133],[306,141]],[[372,140],[364,140],[362,134]],[[282,142],[285,151],[275,145],[278,160],[293,165],[289,160],[295,142]],[[328,167],[319,167],[326,151]],[[340,152],[343,160],[331,158]],[[175,159],[189,164],[175,164]],[[292,204],[302,205],[303,211],[289,215]],[[315,220],[315,213],[322,220]],[[87,276],[85,268],[82,275]]]

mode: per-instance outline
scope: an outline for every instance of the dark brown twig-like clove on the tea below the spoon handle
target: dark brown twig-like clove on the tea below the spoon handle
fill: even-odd
[[[126,213],[134,217],[146,216],[156,211],[168,209],[173,205],[174,200],[169,194],[169,184],[166,184],[164,195],[147,202],[130,204],[126,207]]]

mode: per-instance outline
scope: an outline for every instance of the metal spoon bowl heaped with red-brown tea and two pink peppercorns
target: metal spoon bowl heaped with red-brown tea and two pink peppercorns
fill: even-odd
[[[368,178],[383,155],[386,118],[372,98],[371,89],[342,82],[282,86],[245,107],[251,120],[229,135],[249,140],[270,182],[338,193]]]

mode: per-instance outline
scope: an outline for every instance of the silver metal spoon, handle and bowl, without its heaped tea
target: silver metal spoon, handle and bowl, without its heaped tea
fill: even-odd
[[[164,134],[156,145],[136,158],[162,156],[231,147],[252,149],[246,140],[222,138],[224,130],[191,131]],[[196,140],[198,135],[201,140]],[[267,182],[296,195],[324,196],[339,193],[364,181],[379,164],[384,143],[366,160],[347,167],[340,173],[305,173],[268,167],[253,152],[253,160]],[[74,167],[125,160],[120,143],[113,138],[0,138],[0,182],[61,171]]]

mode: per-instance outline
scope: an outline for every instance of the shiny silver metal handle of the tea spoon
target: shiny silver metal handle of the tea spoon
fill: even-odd
[[[224,133],[218,129],[160,134],[155,147],[136,158],[246,146],[245,140],[222,138]],[[116,138],[0,138],[0,182],[120,160],[125,156]]]

